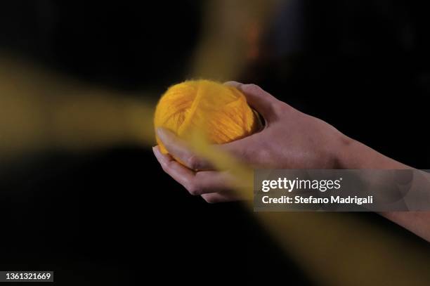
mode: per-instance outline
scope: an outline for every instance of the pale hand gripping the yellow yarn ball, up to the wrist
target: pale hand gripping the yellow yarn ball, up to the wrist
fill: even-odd
[[[217,145],[218,148],[229,152],[250,167],[271,169],[342,167],[339,166],[339,162],[342,162],[341,155],[345,146],[352,141],[350,138],[330,124],[295,110],[259,86],[237,82],[229,82],[228,86],[242,92],[247,103],[263,117],[265,126],[256,133],[252,133],[252,128],[242,129],[245,131],[238,136],[239,140]],[[177,136],[175,129],[172,129],[156,128],[158,141],[163,145],[155,146],[153,151],[164,171],[181,183],[188,192],[201,195],[207,202],[240,199],[231,191],[230,182],[235,178],[229,171],[212,169],[211,164],[193,154],[181,140],[181,136]],[[169,154],[163,152],[163,148]],[[179,164],[175,158],[186,167]],[[196,169],[204,171],[195,171]]]

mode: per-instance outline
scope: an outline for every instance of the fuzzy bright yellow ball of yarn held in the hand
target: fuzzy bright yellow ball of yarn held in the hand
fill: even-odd
[[[154,125],[179,137],[202,129],[211,143],[221,144],[253,134],[261,123],[241,91],[202,79],[171,86],[157,104]],[[166,154],[158,137],[157,143]]]

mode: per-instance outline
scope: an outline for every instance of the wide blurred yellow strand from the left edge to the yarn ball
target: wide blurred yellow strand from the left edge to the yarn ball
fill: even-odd
[[[0,58],[0,157],[58,148],[152,145],[155,103]]]

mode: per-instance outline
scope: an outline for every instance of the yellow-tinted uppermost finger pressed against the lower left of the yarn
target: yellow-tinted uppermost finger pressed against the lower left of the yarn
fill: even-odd
[[[197,157],[178,136],[168,129],[158,128],[157,136],[163,142],[169,154],[180,160],[186,167],[193,170],[212,169],[207,160]]]

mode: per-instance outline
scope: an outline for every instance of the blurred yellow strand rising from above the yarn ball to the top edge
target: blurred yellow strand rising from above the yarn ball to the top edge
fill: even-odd
[[[273,16],[278,0],[211,0],[203,11],[203,32],[190,77],[237,79],[255,46],[254,34]]]

